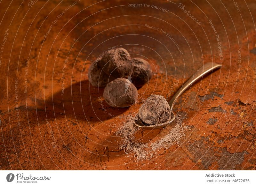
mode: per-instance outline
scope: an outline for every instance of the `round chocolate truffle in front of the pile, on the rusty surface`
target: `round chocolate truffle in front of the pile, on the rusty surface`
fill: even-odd
[[[111,107],[129,107],[137,101],[138,90],[128,79],[117,78],[105,87],[103,97]]]

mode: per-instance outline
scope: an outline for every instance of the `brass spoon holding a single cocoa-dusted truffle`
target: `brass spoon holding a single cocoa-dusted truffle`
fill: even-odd
[[[167,126],[168,124],[170,124],[171,122],[173,122],[175,120],[175,114],[172,111],[172,107],[174,105],[174,103],[176,102],[176,100],[179,98],[179,96],[188,88],[190,87],[194,82],[196,82],[196,80],[198,80],[199,78],[201,78],[202,76],[204,76],[205,74],[211,72],[214,69],[218,69],[221,67],[221,64],[217,64],[217,63],[205,63],[200,69],[198,69],[195,74],[193,76],[191,76],[188,81],[186,81],[186,83],[184,83],[180,89],[174,94],[174,96],[172,97],[172,99],[169,101],[169,105],[171,107],[171,120],[167,121],[165,123],[159,123],[159,124],[155,124],[155,125],[147,125],[145,123],[143,123],[139,116],[136,115],[134,120],[135,120],[135,125],[137,127],[140,127],[142,129],[145,130],[151,130],[151,129],[158,129],[158,128],[162,128]]]

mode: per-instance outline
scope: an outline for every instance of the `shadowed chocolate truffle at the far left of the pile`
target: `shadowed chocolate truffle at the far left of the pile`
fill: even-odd
[[[101,70],[99,63],[100,59],[97,59],[94,63],[91,64],[88,71],[88,78],[92,86],[105,87],[108,82],[114,80],[115,78],[109,76],[104,71]]]

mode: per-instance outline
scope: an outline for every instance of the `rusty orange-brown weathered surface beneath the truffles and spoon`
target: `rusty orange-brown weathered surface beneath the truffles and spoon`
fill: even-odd
[[[135,1],[18,2],[0,3],[2,170],[255,170],[255,1],[183,1],[184,9],[179,1],[136,8],[127,4]],[[114,46],[147,59],[154,71],[130,108],[100,104],[104,89],[88,81],[92,61]],[[175,104],[188,126],[181,144],[140,162],[124,154],[114,133],[125,116],[150,94],[171,97],[211,61],[222,68]],[[136,138],[156,140],[164,130],[137,131]]]

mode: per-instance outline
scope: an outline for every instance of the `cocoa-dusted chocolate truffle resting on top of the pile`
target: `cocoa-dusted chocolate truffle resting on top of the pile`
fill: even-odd
[[[103,71],[115,78],[128,78],[132,75],[131,57],[124,48],[109,50],[99,64]]]

